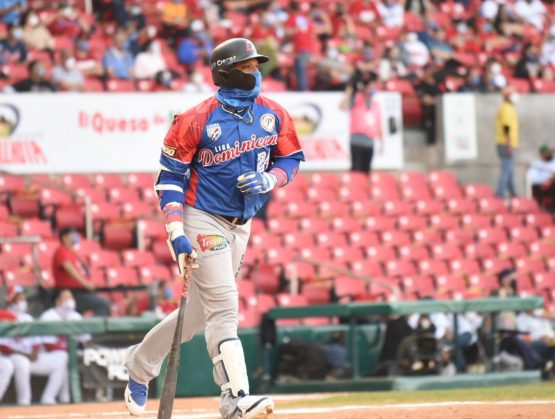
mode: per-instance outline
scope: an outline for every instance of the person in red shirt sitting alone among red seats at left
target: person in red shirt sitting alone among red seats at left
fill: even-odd
[[[95,287],[88,280],[88,269],[74,250],[79,240],[79,233],[73,228],[60,231],[61,245],[52,261],[55,288],[71,289],[80,313],[91,310],[97,316],[108,316],[110,303],[94,292]]]

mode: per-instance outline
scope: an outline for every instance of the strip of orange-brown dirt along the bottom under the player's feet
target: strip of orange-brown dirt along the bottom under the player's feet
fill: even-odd
[[[298,400],[317,395],[276,397],[272,419],[555,419],[555,402],[455,402],[402,405],[297,407]],[[156,418],[158,401],[149,402],[144,418]],[[0,407],[1,419],[130,419],[123,402],[60,406]],[[175,402],[173,419],[218,419],[217,399],[189,398]]]

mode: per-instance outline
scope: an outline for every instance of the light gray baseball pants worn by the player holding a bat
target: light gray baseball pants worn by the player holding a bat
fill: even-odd
[[[204,329],[208,354],[214,358],[219,354],[220,342],[237,338],[239,300],[235,278],[247,248],[251,223],[233,225],[190,206],[185,206],[184,220],[185,234],[196,249],[199,267],[189,279],[181,342],[188,342]],[[128,351],[125,365],[135,381],[146,384],[160,373],[170,351],[177,312],[169,314]],[[217,385],[227,382],[221,362],[213,373]],[[229,391],[222,394],[222,417],[235,418],[236,403]]]

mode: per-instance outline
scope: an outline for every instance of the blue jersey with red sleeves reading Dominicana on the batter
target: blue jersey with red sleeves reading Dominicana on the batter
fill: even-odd
[[[162,194],[186,191],[187,205],[211,214],[251,218],[269,194],[241,193],[237,177],[275,167],[290,181],[300,161],[304,154],[293,121],[276,102],[259,96],[251,114],[241,116],[212,97],[175,116],[162,146],[156,188]],[[176,175],[183,179],[182,185],[176,184]]]

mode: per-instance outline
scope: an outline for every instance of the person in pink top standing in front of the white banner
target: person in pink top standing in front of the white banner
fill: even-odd
[[[382,113],[376,100],[376,73],[355,73],[345,89],[340,109],[351,111],[351,170],[369,173],[374,150],[383,152]]]

